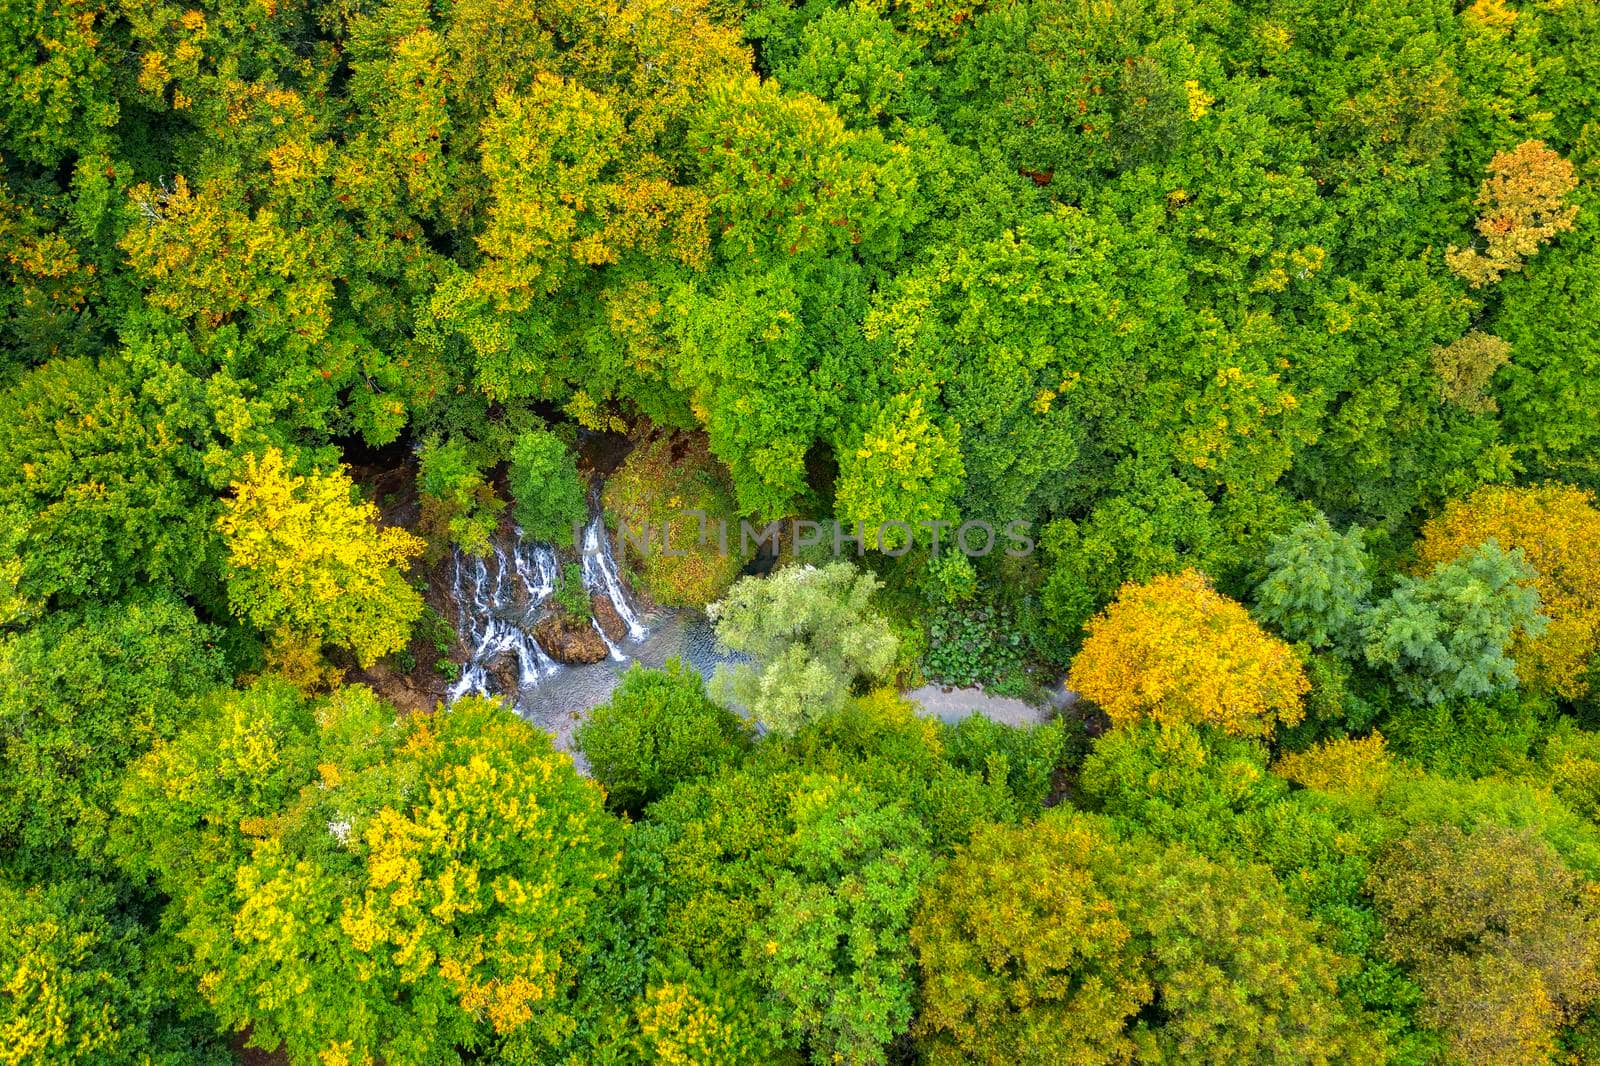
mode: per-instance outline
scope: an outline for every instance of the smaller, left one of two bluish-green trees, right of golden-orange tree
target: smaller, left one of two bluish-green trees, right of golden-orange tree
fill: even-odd
[[[1360,528],[1336,533],[1318,512],[1275,538],[1266,565],[1258,618],[1314,648],[1349,647],[1373,591]]]

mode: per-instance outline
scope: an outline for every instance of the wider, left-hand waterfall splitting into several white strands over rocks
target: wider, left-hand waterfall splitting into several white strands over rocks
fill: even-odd
[[[555,552],[546,544],[517,539],[507,560],[494,546],[493,567],[486,559],[456,552],[451,591],[456,597],[458,632],[470,647],[461,677],[450,687],[450,701],[467,693],[490,695],[490,664],[510,651],[523,685],[536,683],[560,669],[530,635],[544,600],[555,591]],[[514,581],[507,581],[512,576]],[[523,603],[517,603],[517,591]],[[507,693],[515,695],[515,693]]]

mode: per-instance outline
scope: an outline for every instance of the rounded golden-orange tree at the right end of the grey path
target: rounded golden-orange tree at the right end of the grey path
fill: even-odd
[[[1067,685],[1115,725],[1139,719],[1269,735],[1304,714],[1294,651],[1197,570],[1125,584],[1088,623]]]

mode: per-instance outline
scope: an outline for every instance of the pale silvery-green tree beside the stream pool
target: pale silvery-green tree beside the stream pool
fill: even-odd
[[[846,562],[741,579],[707,613],[718,643],[755,664],[717,667],[712,691],[778,733],[843,706],[858,679],[894,663],[894,632],[870,608],[877,587]]]

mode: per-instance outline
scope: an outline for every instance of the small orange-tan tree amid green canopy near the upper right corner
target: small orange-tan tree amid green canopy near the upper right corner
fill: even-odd
[[[1557,234],[1573,227],[1578,206],[1566,197],[1578,189],[1573,165],[1544,146],[1523,141],[1490,160],[1490,176],[1478,187],[1477,230],[1485,248],[1450,248],[1445,261],[1472,288],[1493,285],[1522,267]]]

